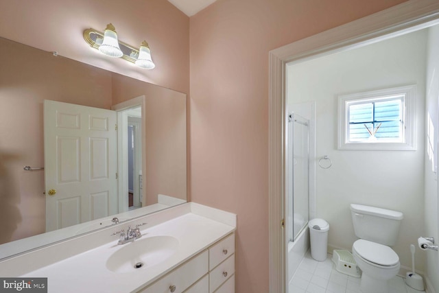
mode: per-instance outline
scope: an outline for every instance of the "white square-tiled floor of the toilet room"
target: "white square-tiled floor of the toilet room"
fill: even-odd
[[[326,261],[316,261],[308,252],[289,282],[289,293],[361,293],[359,278],[335,270],[328,255]],[[390,280],[390,293],[423,293],[407,285],[401,277]],[[425,293],[425,292],[424,292]]]

